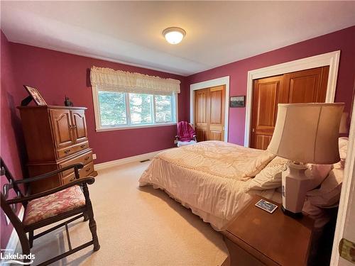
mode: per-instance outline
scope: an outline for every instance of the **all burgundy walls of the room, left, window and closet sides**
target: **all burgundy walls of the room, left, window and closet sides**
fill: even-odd
[[[89,142],[94,148],[94,153],[97,153],[95,163],[99,163],[170,148],[173,146],[175,126],[97,133],[94,124],[92,89],[89,84],[89,68],[92,65],[180,79],[182,92],[178,96],[178,115],[181,121],[188,120],[190,117],[189,87],[192,83],[230,76],[230,95],[246,95],[249,70],[334,50],[342,51],[336,101],[344,101],[346,111],[350,111],[354,96],[355,26],[193,74],[190,77],[9,43],[1,32],[1,157],[16,177],[23,176],[21,167],[25,165],[26,153],[21,122],[16,111],[16,106],[28,95],[23,89],[23,84],[38,87],[48,104],[63,105],[66,95],[70,97],[75,106],[88,108]],[[245,109],[229,110],[230,142],[243,145],[244,123]],[[26,170],[23,171],[26,172]],[[10,233],[11,228],[4,224],[4,215],[1,213],[1,248],[6,246]]]

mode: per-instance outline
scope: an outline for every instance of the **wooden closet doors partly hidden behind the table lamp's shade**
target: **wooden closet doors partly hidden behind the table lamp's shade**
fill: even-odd
[[[266,150],[273,136],[278,104],[323,103],[329,66],[253,81],[251,148]]]

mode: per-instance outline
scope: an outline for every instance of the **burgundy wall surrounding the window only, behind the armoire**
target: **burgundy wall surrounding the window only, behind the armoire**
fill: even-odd
[[[15,43],[11,43],[11,56],[16,70],[15,86],[21,90],[13,95],[14,104],[18,105],[21,99],[28,95],[22,89],[23,84],[28,84],[37,87],[49,105],[64,105],[66,95],[75,106],[87,107],[89,145],[97,154],[95,163],[171,148],[174,145],[176,126],[96,132],[92,88],[89,82],[89,68],[93,65],[180,79],[182,84],[181,93],[178,94],[178,118],[187,119],[185,103],[188,102],[188,92],[185,77]]]

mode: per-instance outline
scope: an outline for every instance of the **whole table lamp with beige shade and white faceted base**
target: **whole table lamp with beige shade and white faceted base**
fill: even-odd
[[[282,173],[283,212],[302,216],[307,188],[306,163],[339,162],[339,124],[344,104],[278,104],[268,151],[292,160]]]

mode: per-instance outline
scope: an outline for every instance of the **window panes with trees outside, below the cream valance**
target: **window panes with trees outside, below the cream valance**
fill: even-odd
[[[98,88],[97,130],[176,123],[177,94],[111,92]]]

